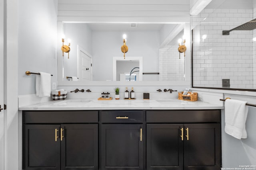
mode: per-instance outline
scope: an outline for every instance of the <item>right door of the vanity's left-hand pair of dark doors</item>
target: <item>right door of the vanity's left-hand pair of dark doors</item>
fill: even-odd
[[[61,125],[61,169],[98,170],[98,124]]]

